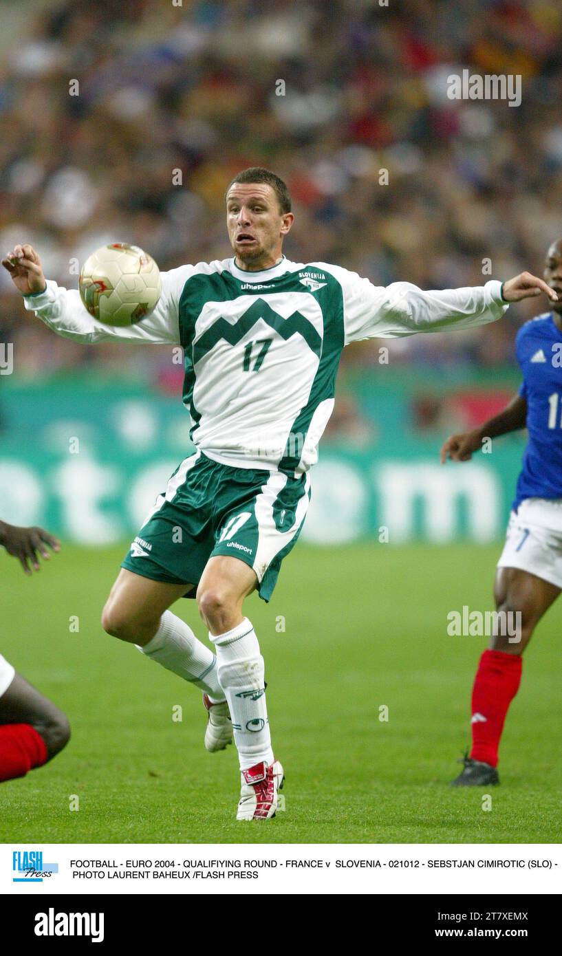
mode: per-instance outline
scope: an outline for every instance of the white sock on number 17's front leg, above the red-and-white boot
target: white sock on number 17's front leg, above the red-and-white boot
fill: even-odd
[[[240,770],[262,760],[272,764],[264,659],[249,619],[225,634],[209,634],[209,639],[217,651],[219,681],[232,718]]]

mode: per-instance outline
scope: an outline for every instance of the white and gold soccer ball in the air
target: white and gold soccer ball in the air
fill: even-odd
[[[124,242],[102,246],[86,259],[78,278],[90,315],[106,325],[134,325],[156,308],[162,292],[152,256]]]

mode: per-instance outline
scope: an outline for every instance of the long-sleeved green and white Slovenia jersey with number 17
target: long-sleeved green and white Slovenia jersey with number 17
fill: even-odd
[[[339,266],[285,256],[262,272],[245,272],[233,258],[162,272],[157,308],[126,328],[97,322],[76,291],[52,281],[25,305],[76,341],[182,345],[194,444],[224,465],[292,475],[317,460],[345,345],[467,329],[508,308],[495,280],[441,292],[409,282],[384,288]]]

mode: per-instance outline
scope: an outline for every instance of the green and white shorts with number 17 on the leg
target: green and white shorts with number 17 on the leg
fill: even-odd
[[[197,451],[174,471],[121,567],[156,581],[193,584],[184,597],[195,597],[209,557],[227,554],[253,568],[259,596],[269,600],[310,497],[308,472],[291,477],[230,467]]]

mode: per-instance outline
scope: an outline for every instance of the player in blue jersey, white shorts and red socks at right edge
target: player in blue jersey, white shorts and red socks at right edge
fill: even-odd
[[[529,442],[497,565],[494,598],[499,617],[480,658],[472,689],[472,750],[453,780],[458,787],[498,784],[498,748],[521,682],[522,655],[539,620],[562,589],[562,239],[547,253],[544,278],[558,293],[551,312],[537,315],[516,338],[523,373],[508,407],[479,428],[446,440],[441,457],[466,462],[485,438],[529,429]],[[512,617],[511,621],[506,617]],[[520,628],[514,628],[513,622]],[[508,626],[506,626],[506,624]],[[509,633],[514,640],[509,638]]]

